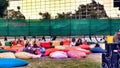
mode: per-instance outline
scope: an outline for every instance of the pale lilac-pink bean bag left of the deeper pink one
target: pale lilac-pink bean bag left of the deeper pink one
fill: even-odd
[[[54,59],[65,59],[68,56],[67,56],[67,53],[63,51],[55,51],[50,54],[50,57]]]

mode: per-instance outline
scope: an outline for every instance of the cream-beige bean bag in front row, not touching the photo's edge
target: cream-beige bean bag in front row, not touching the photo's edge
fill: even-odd
[[[17,52],[15,53],[15,56],[21,59],[31,59],[33,57],[33,54],[27,52]]]

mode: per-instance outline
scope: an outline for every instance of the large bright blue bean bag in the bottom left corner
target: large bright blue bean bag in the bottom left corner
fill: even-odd
[[[28,65],[28,62],[17,58],[0,58],[0,68],[15,68]]]

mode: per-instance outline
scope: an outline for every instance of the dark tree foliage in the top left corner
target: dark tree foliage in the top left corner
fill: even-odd
[[[5,11],[9,6],[8,0],[0,0],[0,17],[3,18],[5,16]]]

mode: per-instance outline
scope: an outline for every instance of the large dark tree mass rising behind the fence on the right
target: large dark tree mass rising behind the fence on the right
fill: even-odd
[[[92,0],[91,3],[86,5],[81,4],[79,5],[78,9],[75,10],[75,13],[57,13],[56,19],[61,18],[73,18],[73,19],[80,19],[80,18],[107,18],[106,11],[104,6],[97,3],[95,0]]]

